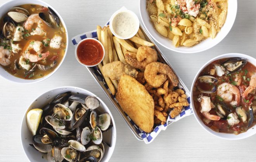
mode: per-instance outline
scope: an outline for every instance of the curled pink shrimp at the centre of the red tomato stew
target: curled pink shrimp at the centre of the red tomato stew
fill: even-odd
[[[240,96],[240,91],[239,89],[229,83],[222,83],[218,86],[217,89],[217,94],[218,96],[220,96],[221,98],[223,98],[224,101],[227,102],[231,102],[233,99],[233,94],[235,95],[235,101],[236,101],[236,105],[239,106],[240,105],[240,101],[241,101],[241,96]]]

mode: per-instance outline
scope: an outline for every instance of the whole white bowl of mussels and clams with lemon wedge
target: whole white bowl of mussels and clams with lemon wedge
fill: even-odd
[[[110,110],[93,93],[61,87],[29,105],[21,143],[31,162],[107,162],[116,144],[116,125]]]

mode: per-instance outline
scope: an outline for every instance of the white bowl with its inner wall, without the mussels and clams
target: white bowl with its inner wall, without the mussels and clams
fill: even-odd
[[[32,108],[42,108],[46,103],[52,101],[53,98],[56,95],[58,95],[60,93],[64,93],[66,91],[71,91],[72,93],[82,93],[82,94],[85,94],[85,95],[90,95],[90,96],[97,97],[96,95],[94,95],[90,91],[87,91],[87,90],[82,89],[82,88],[59,87],[59,88],[55,88],[55,89],[52,89],[50,91],[47,91],[47,92],[43,93],[42,95],[38,96],[35,100],[33,100],[33,102],[28,106],[27,111],[24,113],[23,120],[22,120],[22,123],[21,123],[22,148],[23,148],[26,156],[28,157],[29,161],[31,161],[31,162],[45,162],[45,161],[47,161],[47,155],[43,155],[43,154],[39,153],[38,151],[36,151],[34,148],[32,148],[29,145],[30,143],[32,143],[33,135],[31,134],[31,132],[28,130],[28,127],[27,127],[27,123],[26,123],[26,114],[27,114],[27,112],[29,110],[31,110]],[[107,108],[105,103],[102,100],[100,100],[100,98],[97,97],[97,99],[100,101],[99,110],[102,111],[102,112],[109,113],[109,115],[111,116],[111,119],[112,119],[112,123],[113,123],[113,127],[111,128],[111,130],[109,130],[108,132],[105,132],[104,136],[103,136],[103,140],[106,143],[109,143],[111,145],[111,147],[105,147],[105,154],[104,154],[104,157],[102,159],[102,162],[107,162],[111,158],[111,155],[113,154],[114,148],[115,148],[115,145],[116,145],[116,124],[114,122],[114,118],[113,118],[110,110]],[[42,159],[42,155],[43,155],[43,159]]]

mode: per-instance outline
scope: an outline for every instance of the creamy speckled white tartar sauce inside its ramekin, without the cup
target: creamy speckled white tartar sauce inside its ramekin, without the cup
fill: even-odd
[[[112,20],[112,29],[119,37],[133,37],[137,32],[137,20],[129,12],[119,12]]]

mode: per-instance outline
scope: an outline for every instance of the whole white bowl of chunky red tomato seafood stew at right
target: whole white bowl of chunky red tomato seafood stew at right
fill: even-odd
[[[237,140],[256,133],[256,59],[223,54],[199,70],[191,88],[197,122],[209,133]]]

